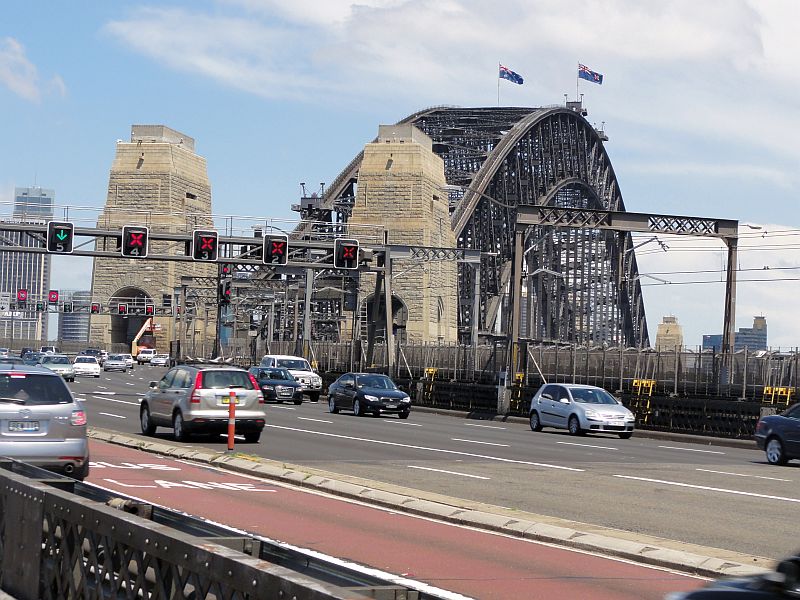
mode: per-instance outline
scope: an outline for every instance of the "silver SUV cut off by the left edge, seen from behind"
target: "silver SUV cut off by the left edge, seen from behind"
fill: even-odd
[[[86,411],[49,369],[0,364],[0,456],[89,475]]]

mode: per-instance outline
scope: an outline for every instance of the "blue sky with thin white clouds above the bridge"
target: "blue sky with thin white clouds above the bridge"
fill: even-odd
[[[629,211],[742,224],[736,327],[800,346],[800,38],[795,0],[159,0],[0,5],[0,215],[15,186],[101,208],[117,139],[196,140],[215,214],[295,219],[389,124],[429,106],[563,104],[588,119]],[[6,204],[3,204],[6,203]],[[638,235],[651,342],[721,333],[722,242]],[[665,249],[666,248],[666,249]],[[57,257],[54,288],[91,260]]]

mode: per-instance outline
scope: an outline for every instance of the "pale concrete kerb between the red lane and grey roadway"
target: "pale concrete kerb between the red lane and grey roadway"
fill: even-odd
[[[356,477],[286,465],[252,455],[229,455],[209,449],[173,446],[166,441],[154,441],[93,427],[89,428],[89,435],[112,444],[207,463],[232,472],[312,488],[398,512],[706,577],[764,573],[774,564],[771,559],[760,556],[705,548],[555,517],[503,509],[381,482],[367,482]]]

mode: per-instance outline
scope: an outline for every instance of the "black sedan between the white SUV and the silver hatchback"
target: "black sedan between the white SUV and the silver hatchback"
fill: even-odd
[[[352,410],[357,417],[371,413],[394,413],[407,419],[411,413],[411,398],[397,389],[386,375],[377,373],[345,373],[328,388],[328,410]]]

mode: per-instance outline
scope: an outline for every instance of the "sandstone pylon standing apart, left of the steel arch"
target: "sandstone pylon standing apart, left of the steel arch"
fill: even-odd
[[[143,225],[150,232],[187,233],[212,226],[211,185],[206,161],[194,151],[194,139],[163,125],[133,125],[131,141],[117,141],[108,180],[108,197],[97,220],[99,229]],[[97,250],[119,251],[114,238],[97,241]],[[148,254],[183,255],[183,244],[150,242]],[[103,313],[92,315],[92,343],[121,351],[141,328],[146,317],[134,308],[153,304],[154,337],[158,350],[166,351],[182,337],[183,352],[211,352],[216,324],[216,301],[197,301],[194,318],[178,327],[173,316],[182,276],[216,277],[215,265],[132,258],[96,258],[92,272],[92,299]],[[191,284],[188,289],[191,297]],[[216,290],[214,290],[216,291]],[[215,296],[215,294],[212,294]],[[127,317],[115,314],[119,303],[129,303]],[[184,311],[185,314],[185,311]],[[183,318],[181,315],[180,318]],[[178,335],[180,330],[180,336]],[[210,338],[210,339],[209,339]]]

